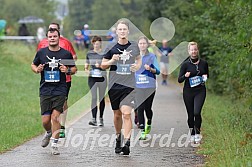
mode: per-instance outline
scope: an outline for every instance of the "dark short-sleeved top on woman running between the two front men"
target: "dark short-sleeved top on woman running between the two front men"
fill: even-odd
[[[95,64],[98,63],[99,65],[101,65],[102,59],[103,59],[103,54],[104,53],[96,53],[94,51],[89,51],[87,53],[87,57],[86,57],[86,63],[90,65],[90,71],[92,74],[92,70],[99,70],[101,71],[101,75],[102,76],[106,76],[106,71],[101,69],[100,67],[96,67]],[[92,77],[92,75],[89,75],[90,77]]]

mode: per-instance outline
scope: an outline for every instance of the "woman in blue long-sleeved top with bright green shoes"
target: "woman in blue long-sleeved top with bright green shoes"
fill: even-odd
[[[152,103],[156,93],[156,75],[160,74],[156,55],[148,51],[149,42],[146,37],[140,37],[138,47],[142,57],[141,68],[136,71],[136,104],[138,112],[139,127],[141,129],[140,140],[145,140],[151,131]],[[147,122],[145,122],[145,114]]]

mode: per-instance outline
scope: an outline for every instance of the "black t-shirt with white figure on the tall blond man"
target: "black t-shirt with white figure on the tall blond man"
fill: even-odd
[[[135,63],[136,57],[140,56],[137,43],[129,41],[126,45],[119,43],[111,45],[105,50],[104,58],[110,60],[114,54],[120,54],[120,58],[110,66],[109,89],[134,88],[135,73],[131,72],[129,67]]]

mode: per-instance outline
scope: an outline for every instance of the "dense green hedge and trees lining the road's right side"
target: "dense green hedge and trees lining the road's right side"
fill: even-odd
[[[176,35],[171,45],[197,41],[210,64],[209,90],[252,104],[252,2],[233,0],[149,1],[150,21],[171,19]],[[157,12],[158,11],[158,12]]]

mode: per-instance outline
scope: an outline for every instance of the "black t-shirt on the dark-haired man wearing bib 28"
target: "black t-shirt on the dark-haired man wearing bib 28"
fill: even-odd
[[[40,49],[33,60],[33,64],[45,64],[41,72],[40,95],[43,96],[65,96],[67,94],[66,74],[55,68],[49,67],[49,62],[60,60],[61,64],[68,67],[75,66],[73,56],[67,50],[60,48],[58,51],[50,51],[48,47]],[[52,70],[53,69],[53,70]]]

